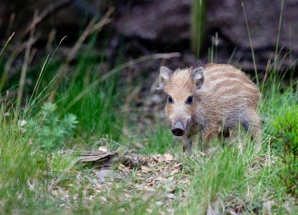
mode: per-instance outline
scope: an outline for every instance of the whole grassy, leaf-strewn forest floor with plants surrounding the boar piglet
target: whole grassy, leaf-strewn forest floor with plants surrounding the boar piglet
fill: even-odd
[[[33,65],[14,47],[0,55],[0,215],[298,215],[296,149],[285,150],[298,140],[295,62],[279,71],[276,58],[251,77],[263,95],[260,151],[235,130],[189,156],[165,122],[157,71],[144,69],[179,53],[109,64],[97,36],[63,56],[52,41]],[[70,150],[114,155],[82,162]]]

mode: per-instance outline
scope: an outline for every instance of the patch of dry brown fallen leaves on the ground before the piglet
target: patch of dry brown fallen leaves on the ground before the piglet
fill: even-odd
[[[105,152],[106,148],[102,146],[99,150],[101,151],[97,151],[96,154],[83,152],[79,158],[84,161],[94,161],[102,155],[111,153]],[[189,176],[179,175],[181,163],[170,153],[154,154],[149,157],[121,156],[121,159],[117,159],[117,163],[114,162],[114,164],[116,166],[113,165],[113,169],[94,169],[91,175],[78,172],[75,186],[81,186],[80,184],[86,178],[90,180],[89,185],[84,187],[84,201],[97,200],[102,204],[115,204],[133,202],[138,197],[141,197],[143,202],[153,201],[151,197],[154,197],[150,206],[170,207],[170,202],[176,198],[184,199],[182,192],[176,193],[176,191],[187,190],[190,184]],[[115,198],[107,193],[110,193],[113,187],[121,187],[121,183],[117,180],[126,180],[126,182],[125,188],[122,188],[119,196]],[[70,197],[70,191],[66,189],[53,189],[52,195],[63,201],[58,205],[59,207],[68,207],[70,202],[78,201],[78,195]],[[152,211],[151,207],[147,209],[149,214]],[[168,214],[172,214],[172,211]]]

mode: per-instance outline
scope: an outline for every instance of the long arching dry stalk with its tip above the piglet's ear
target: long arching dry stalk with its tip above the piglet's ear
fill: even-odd
[[[173,53],[165,53],[165,54],[155,54],[155,55],[147,55],[143,56],[141,58],[137,58],[134,61],[134,64],[138,64],[144,61],[149,60],[155,60],[155,59],[171,59],[171,58],[178,58],[181,54],[179,52],[173,52]],[[103,74],[101,77],[97,78],[93,83],[91,83],[88,87],[84,88],[75,98],[69,103],[69,105],[65,108],[65,112],[67,112],[78,100],[80,100],[89,90],[93,89],[95,86],[97,86],[99,83],[104,81],[105,79],[109,78],[113,74],[116,74],[117,72],[120,72],[124,70],[125,68],[129,67],[131,65],[131,61],[124,63],[115,69]]]

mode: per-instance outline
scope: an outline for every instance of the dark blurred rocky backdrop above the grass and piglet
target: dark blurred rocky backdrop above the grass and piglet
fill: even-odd
[[[274,61],[280,18],[277,65],[280,71],[293,66],[298,58],[298,0],[285,0],[282,16],[282,0],[244,0],[243,3],[258,72],[266,69],[270,58]],[[241,1],[203,0],[203,4],[199,60],[207,62],[208,52],[216,44],[214,62],[230,63],[252,72],[253,59]],[[197,61],[196,48],[191,42],[193,6],[192,0],[1,0],[0,44],[3,46],[12,32],[15,32],[12,43],[24,39],[21,32],[37,10],[38,14],[49,11],[35,29],[37,53],[45,54],[51,32],[55,32],[57,41],[67,35],[62,45],[72,47],[93,16],[100,18],[114,7],[112,22],[100,32],[94,46],[98,52],[108,49],[105,61],[112,63],[119,52],[125,59],[180,52],[181,58],[166,64],[170,68],[185,67]],[[158,66],[155,62],[140,70],[156,72]]]

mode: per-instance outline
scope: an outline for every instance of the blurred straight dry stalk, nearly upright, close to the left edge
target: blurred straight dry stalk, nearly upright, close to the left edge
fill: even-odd
[[[37,17],[38,10],[34,11],[34,18],[33,20]],[[21,77],[19,81],[19,87],[18,87],[18,92],[17,92],[17,108],[20,107],[22,95],[23,95],[23,90],[24,90],[24,83],[25,83],[25,77],[26,77],[26,72],[27,72],[27,67],[28,67],[28,62],[29,62],[29,57],[30,57],[30,51],[31,51],[31,41],[33,41],[33,35],[34,35],[35,27],[31,28],[30,30],[30,37],[29,37],[29,43],[27,43],[26,46],[26,52],[25,52],[25,58],[22,66],[22,72],[21,72]]]

